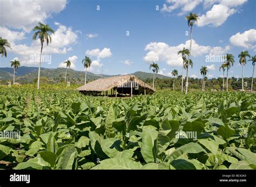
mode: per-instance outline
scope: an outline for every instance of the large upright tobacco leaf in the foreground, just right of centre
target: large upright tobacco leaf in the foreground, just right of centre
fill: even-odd
[[[142,156],[147,163],[155,162],[157,158],[157,136],[158,132],[150,128],[142,131]]]

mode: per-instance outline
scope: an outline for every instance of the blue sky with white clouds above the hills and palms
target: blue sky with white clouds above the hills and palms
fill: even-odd
[[[32,56],[39,55],[39,41],[32,41],[32,28],[39,21],[55,30],[52,43],[44,44],[43,55],[51,59],[42,67],[84,70],[85,55],[92,60],[92,73],[127,74],[149,70],[159,64],[160,74],[181,74],[182,60],[177,51],[189,48],[190,28],[185,16],[199,15],[193,26],[190,76],[201,77],[201,66],[208,67],[208,78],[219,77],[221,62],[206,62],[207,55],[232,53],[235,64],[230,76],[241,77],[238,54],[247,50],[256,55],[256,18],[253,0],[104,0],[104,1],[11,1],[0,0],[0,37],[10,41],[12,50],[0,59],[0,67],[9,67],[17,57],[22,66],[37,67]],[[97,8],[99,10],[97,10]],[[188,34],[186,33],[188,32]],[[129,35],[127,35],[129,32]],[[49,58],[48,58],[49,59]],[[245,76],[252,74],[247,62]]]

